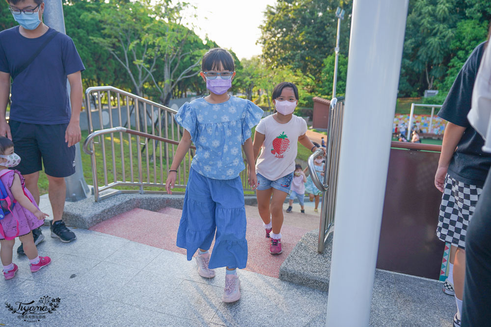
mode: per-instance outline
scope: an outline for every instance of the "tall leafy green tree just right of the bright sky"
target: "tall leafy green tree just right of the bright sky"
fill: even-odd
[[[334,52],[338,5],[346,10],[341,21],[340,48],[347,55],[351,0],[278,0],[268,6],[259,39],[267,65],[291,67],[319,78],[326,54]]]

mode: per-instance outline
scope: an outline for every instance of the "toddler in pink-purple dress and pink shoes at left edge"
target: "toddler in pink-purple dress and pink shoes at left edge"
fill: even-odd
[[[7,193],[5,200],[2,200],[4,204],[7,204],[2,204],[0,213],[0,259],[3,265],[3,276],[5,279],[11,279],[18,270],[17,265],[12,263],[12,250],[16,237],[19,237],[24,246],[32,273],[50,264],[50,257],[38,255],[31,232],[43,226],[48,214],[39,210],[34,198],[24,187],[24,177],[18,171],[8,169],[17,166],[21,158],[14,153],[12,141],[3,136],[0,136],[0,153],[0,182]],[[1,198],[4,196],[5,194]],[[10,212],[7,213],[7,210]]]

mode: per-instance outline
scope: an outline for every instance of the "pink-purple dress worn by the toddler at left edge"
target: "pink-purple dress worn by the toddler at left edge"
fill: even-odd
[[[0,171],[0,175],[5,173],[4,171]],[[0,177],[1,182],[5,185],[5,189],[11,200],[14,199],[12,192],[10,191],[10,187],[12,187],[12,183],[14,181],[14,175],[19,175],[21,179],[22,188],[24,189],[24,194],[29,198],[29,200],[39,208],[32,197],[32,194],[24,187],[24,177],[17,170],[10,170],[8,173],[4,174]],[[3,234],[6,239],[13,239],[17,235],[17,231],[19,231],[18,236],[28,234],[32,229],[35,229],[39,226],[43,226],[44,220],[37,219],[36,216],[19,203],[15,203],[13,208],[15,213],[17,213],[17,217],[14,217],[12,213],[7,214],[2,220],[0,220],[0,227],[3,229]],[[17,227],[17,221],[19,222],[19,226]],[[0,233],[0,239],[3,239]]]

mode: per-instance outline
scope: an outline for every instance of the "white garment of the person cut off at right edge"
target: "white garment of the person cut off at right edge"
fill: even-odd
[[[483,151],[491,152],[491,44],[488,40],[472,91],[472,106],[467,114],[470,125],[481,134]]]

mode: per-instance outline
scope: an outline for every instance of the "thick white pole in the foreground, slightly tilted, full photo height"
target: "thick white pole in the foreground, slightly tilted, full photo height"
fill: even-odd
[[[369,325],[408,1],[353,3],[327,326]]]

